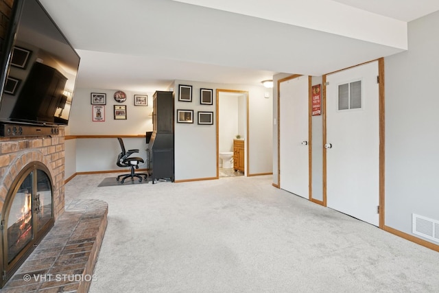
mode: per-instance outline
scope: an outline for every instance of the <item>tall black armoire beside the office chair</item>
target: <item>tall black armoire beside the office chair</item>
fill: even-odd
[[[156,91],[153,95],[152,135],[148,157],[152,183],[158,179],[174,182],[174,94]]]

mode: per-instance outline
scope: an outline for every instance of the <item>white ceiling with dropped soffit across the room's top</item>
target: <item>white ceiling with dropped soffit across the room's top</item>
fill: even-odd
[[[260,85],[407,48],[438,0],[40,0],[81,56],[77,86],[153,92],[173,80]]]

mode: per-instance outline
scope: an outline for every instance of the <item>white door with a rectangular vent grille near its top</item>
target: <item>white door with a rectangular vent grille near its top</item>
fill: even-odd
[[[327,207],[379,225],[378,62],[327,75]]]

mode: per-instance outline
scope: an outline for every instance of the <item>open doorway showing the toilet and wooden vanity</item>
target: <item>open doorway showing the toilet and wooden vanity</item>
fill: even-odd
[[[248,170],[248,91],[217,89],[217,178],[247,176]],[[244,154],[235,152],[243,145]],[[222,158],[220,159],[220,153]],[[230,161],[227,155],[229,153]],[[237,167],[244,161],[244,168]],[[223,163],[224,162],[224,163]]]

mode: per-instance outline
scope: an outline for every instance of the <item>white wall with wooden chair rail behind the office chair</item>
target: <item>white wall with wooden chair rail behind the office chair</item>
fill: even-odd
[[[75,89],[73,105],[66,128],[66,135],[145,135],[152,131],[152,95],[154,93],[133,93],[125,91],[126,102],[118,103],[113,98],[116,90]],[[91,93],[106,93],[105,121],[92,121]],[[148,106],[134,106],[134,94],[148,95]],[[115,120],[114,105],[126,105],[127,119]],[[137,156],[147,162],[146,141],[144,137],[123,139],[126,149],[138,149]],[[124,169],[116,165],[121,152],[115,138],[68,139],[65,145],[65,176],[69,178],[77,172],[99,172]],[[140,166],[141,168],[147,165]],[[127,168],[128,169],[128,168]]]

